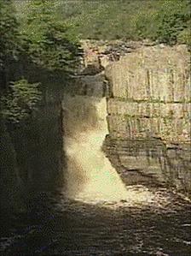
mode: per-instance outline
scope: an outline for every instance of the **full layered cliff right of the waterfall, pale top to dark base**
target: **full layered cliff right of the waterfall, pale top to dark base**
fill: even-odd
[[[109,154],[191,192],[190,73],[185,46],[139,47],[106,68]]]

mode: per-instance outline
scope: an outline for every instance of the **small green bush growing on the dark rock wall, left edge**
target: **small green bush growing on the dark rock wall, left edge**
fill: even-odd
[[[1,97],[1,115],[9,122],[20,122],[36,109],[41,100],[39,83],[22,79],[10,83],[9,91]]]

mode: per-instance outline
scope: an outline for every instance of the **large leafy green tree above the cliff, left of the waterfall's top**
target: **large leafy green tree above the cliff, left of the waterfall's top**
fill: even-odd
[[[22,27],[24,48],[38,66],[71,71],[78,63],[78,40],[67,33],[66,22],[57,19],[56,3],[50,0],[28,3],[26,22]]]

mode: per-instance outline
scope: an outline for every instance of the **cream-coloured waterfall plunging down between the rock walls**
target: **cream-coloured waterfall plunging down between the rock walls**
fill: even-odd
[[[83,201],[126,199],[124,183],[101,150],[108,134],[106,98],[65,95],[62,108],[67,196]]]

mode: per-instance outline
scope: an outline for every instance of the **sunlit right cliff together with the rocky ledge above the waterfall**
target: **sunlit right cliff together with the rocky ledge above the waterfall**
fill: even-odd
[[[72,91],[107,96],[107,157],[130,184],[191,192],[190,59],[185,45],[84,41]]]

